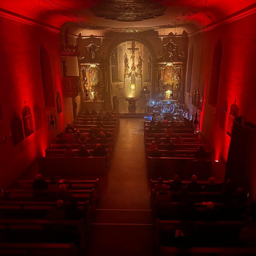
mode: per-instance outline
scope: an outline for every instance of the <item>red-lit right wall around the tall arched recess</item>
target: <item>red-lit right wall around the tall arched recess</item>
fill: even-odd
[[[226,161],[229,150],[230,137],[226,134],[230,107],[235,103],[239,108],[239,115],[246,121],[256,123],[256,33],[254,26],[256,14],[226,23],[204,33],[201,78],[199,85],[199,70],[201,62],[202,33],[190,37],[193,42],[194,59],[192,70],[191,92],[186,93],[186,103],[194,114],[196,107],[191,103],[194,88],[201,94],[204,91],[204,106],[201,119],[201,131],[216,151],[216,159]],[[222,64],[220,70],[219,91],[217,105],[208,105],[211,81],[212,59],[214,47],[221,39]],[[226,106],[225,130],[219,127],[220,108]],[[216,113],[214,117],[214,112]],[[242,138],[241,138],[242,139]],[[246,150],[246,149],[240,149]]]

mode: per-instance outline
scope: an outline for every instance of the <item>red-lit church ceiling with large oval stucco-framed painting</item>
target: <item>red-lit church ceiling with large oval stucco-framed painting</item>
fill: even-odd
[[[242,9],[256,8],[255,0],[0,0],[0,13],[60,28],[74,23],[78,34],[86,29],[182,28],[192,33]],[[40,4],[40,6],[39,6]]]

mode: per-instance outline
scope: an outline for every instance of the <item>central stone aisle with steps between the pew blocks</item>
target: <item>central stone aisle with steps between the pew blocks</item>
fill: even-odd
[[[154,226],[146,174],[143,119],[120,119],[100,204],[91,225],[90,256],[151,256]]]

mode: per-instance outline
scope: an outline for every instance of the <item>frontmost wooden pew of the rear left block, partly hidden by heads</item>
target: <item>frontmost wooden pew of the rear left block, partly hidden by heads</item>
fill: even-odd
[[[46,180],[46,182],[48,183],[50,180]],[[32,188],[33,180],[17,180],[16,183],[18,189]],[[78,187],[80,189],[80,187],[93,186],[93,188],[96,190],[98,187],[98,178],[97,180],[63,180],[61,184],[65,184],[67,189],[78,189]]]

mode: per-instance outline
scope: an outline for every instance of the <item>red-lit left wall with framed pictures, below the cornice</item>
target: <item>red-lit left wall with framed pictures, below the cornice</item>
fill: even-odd
[[[44,44],[50,56],[54,98],[57,98],[58,89],[62,101],[65,100],[60,69],[59,33],[46,29],[42,31],[41,27],[3,17],[0,17],[0,24],[0,102],[3,116],[0,120],[0,141],[4,136],[9,137],[14,113],[22,118],[24,101],[31,107],[34,128],[34,133],[28,138],[23,131],[24,140],[15,147],[10,140],[0,144],[0,188],[5,188],[38,156],[44,155],[44,150],[55,135],[63,131],[67,122],[73,121],[73,113],[71,98],[66,98],[63,112],[59,115],[56,103],[51,110],[44,105],[39,58],[41,44]],[[42,110],[43,126],[38,130],[34,123],[34,105]],[[57,115],[58,130],[54,132],[48,131],[47,116],[51,111],[53,115]]]

